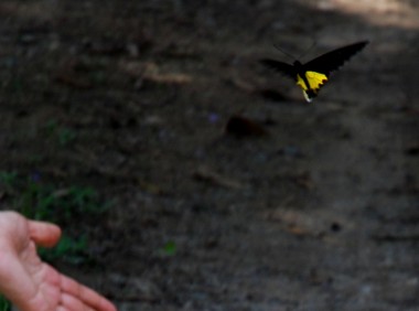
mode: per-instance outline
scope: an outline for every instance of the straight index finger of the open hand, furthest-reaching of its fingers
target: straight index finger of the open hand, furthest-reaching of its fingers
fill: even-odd
[[[76,299],[83,301],[86,305],[93,310],[98,311],[116,311],[115,305],[107,300],[105,297],[100,296],[93,289],[82,286],[75,280],[63,276],[61,281],[61,288],[67,294],[73,296]]]

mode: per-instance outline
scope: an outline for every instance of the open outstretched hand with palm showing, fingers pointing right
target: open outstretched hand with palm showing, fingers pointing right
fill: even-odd
[[[36,245],[54,246],[58,226],[0,212],[0,293],[21,311],[116,311],[96,291],[43,262]]]

